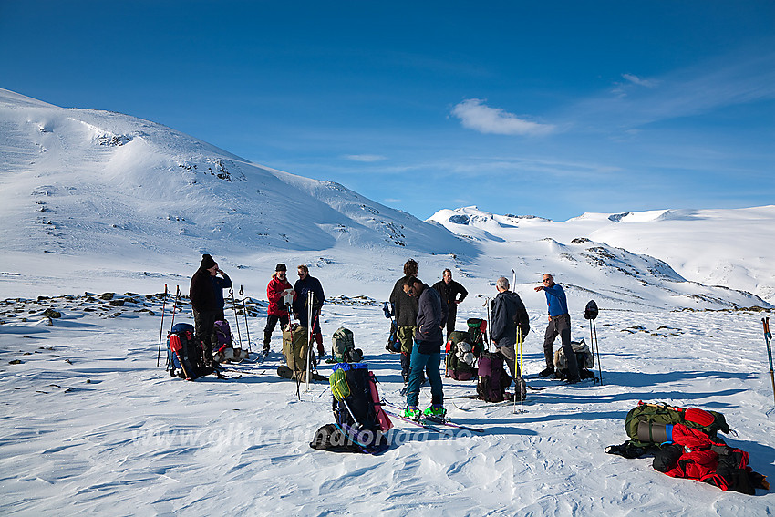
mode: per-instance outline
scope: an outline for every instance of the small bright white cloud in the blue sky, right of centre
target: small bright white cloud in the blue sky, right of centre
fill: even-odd
[[[464,128],[496,135],[546,135],[554,130],[551,124],[523,120],[501,108],[490,108],[479,98],[460,102],[452,115],[460,119]]]

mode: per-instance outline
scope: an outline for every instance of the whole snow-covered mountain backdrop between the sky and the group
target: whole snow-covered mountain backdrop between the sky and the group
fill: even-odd
[[[594,296],[609,306],[767,305],[740,290],[775,293],[763,244],[775,207],[568,222],[470,207],[423,222],[148,120],[7,90],[0,164],[5,295],[113,290],[117,278],[134,292],[164,283],[185,292],[201,253],[241,270],[235,281],[255,295],[284,262],[312,264],[330,294],[384,299],[408,257],[429,283],[450,267],[484,295],[511,269],[520,292],[551,271],[578,303]]]

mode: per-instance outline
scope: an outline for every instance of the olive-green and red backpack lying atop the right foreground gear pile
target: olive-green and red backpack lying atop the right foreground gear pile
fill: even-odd
[[[718,431],[729,432],[727,419],[716,411],[698,408],[673,408],[666,404],[638,402],[625,418],[625,432],[636,447],[647,447],[670,441],[672,426],[683,424],[699,429],[710,438],[716,438]]]

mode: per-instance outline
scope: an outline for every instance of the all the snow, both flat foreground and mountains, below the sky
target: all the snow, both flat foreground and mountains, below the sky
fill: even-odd
[[[584,214],[567,222],[470,207],[421,222],[336,183],[248,163],[150,121],[61,109],[6,90],[0,167],[0,295],[13,297],[0,305],[0,513],[775,510],[772,493],[749,497],[673,480],[647,459],[603,451],[625,441],[624,417],[639,399],[666,401],[723,412],[737,431],[725,438],[775,478],[760,324],[768,313],[732,310],[769,311],[775,207]],[[329,298],[326,345],[336,328],[351,328],[381,393],[398,404],[398,358],[384,350],[388,321],[378,305],[407,258],[418,260],[425,281],[450,267],[470,290],[459,326],[483,317],[482,297],[516,270],[515,290],[534,329],[524,346],[529,377],[544,366],[546,310],[532,286],[551,272],[566,287],[574,337],[588,336],[586,302],[601,306],[604,386],[529,378],[547,389],[529,393],[524,413],[448,401],[450,417],[482,435],[397,422],[381,456],[311,450],[315,429],[333,418],[330,391],[317,384],[296,398],[294,383],[274,374],[282,362],[276,352],[263,364],[231,367],[229,380],[173,379],[156,366],[160,296],[117,295],[110,305],[75,295],[158,293],[164,284],[186,294],[203,252],[256,299],[264,298],[274,264],[292,272],[310,264]],[[74,295],[37,298],[63,293]],[[253,306],[255,351],[265,303]],[[49,319],[47,308],[62,317]],[[190,306],[175,317],[191,321]],[[233,311],[228,318],[236,333]],[[279,350],[279,332],[273,346]],[[445,379],[448,396],[473,388]],[[429,395],[421,400],[429,404]]]

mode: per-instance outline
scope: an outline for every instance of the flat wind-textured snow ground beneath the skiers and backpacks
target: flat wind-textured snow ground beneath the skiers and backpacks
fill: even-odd
[[[482,316],[479,305],[460,306],[459,326]],[[309,447],[315,429],[333,421],[330,390],[325,383],[309,392],[302,386],[297,399],[294,383],[274,373],[279,354],[230,367],[243,371],[238,379],[186,382],[168,376],[163,356],[156,367],[159,305],[151,307],[153,316],[128,311],[112,318],[70,306],[53,326],[0,326],[4,515],[737,516],[775,510],[771,492],[724,492],[668,478],[649,459],[604,453],[625,441],[625,414],[638,400],[665,401],[723,412],[737,432],[724,438],[749,452],[754,470],[775,478],[761,313],[601,312],[604,385],[574,387],[532,378],[543,367],[542,320],[534,315],[523,363],[530,385],[550,388],[529,391],[523,413],[514,414],[511,405],[462,411],[448,404],[452,419],[485,432],[439,434],[397,420],[393,446],[368,456]],[[233,313],[227,317],[233,324]],[[186,308],[176,315],[176,321],[190,319]],[[398,356],[384,349],[388,321],[381,309],[326,305],[323,321],[326,346],[338,326],[354,330],[380,393],[402,404]],[[574,323],[574,338],[588,340],[586,322]],[[263,324],[263,314],[251,318],[254,339]],[[274,350],[279,346],[275,332]],[[15,359],[23,363],[9,364]],[[321,369],[327,374],[330,366]],[[474,390],[473,381],[444,381],[449,397]],[[428,389],[422,404],[429,404]]]

